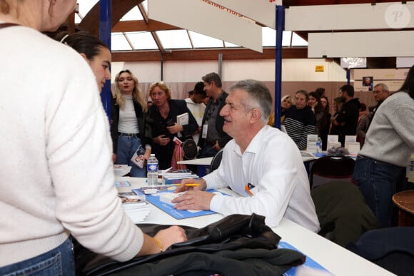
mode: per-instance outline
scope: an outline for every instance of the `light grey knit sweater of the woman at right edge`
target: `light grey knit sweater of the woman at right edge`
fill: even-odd
[[[407,167],[413,150],[414,99],[408,93],[398,92],[378,108],[360,155]]]

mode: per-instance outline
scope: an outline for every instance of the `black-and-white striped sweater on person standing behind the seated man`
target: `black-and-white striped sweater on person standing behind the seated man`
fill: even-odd
[[[315,114],[309,106],[302,109],[292,106],[286,111],[283,126],[285,126],[288,136],[296,143],[299,150],[305,150],[308,134],[316,133]]]

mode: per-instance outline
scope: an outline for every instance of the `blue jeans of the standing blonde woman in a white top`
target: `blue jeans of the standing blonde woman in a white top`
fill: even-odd
[[[118,148],[116,148],[116,164],[131,166],[130,175],[134,178],[146,178],[146,166],[139,168],[131,158],[141,145],[141,139],[134,136],[118,136]]]

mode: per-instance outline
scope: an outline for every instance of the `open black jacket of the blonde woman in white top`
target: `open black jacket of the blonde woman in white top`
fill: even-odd
[[[133,108],[135,109],[136,120],[138,121],[138,137],[141,139],[143,148],[145,145],[152,146],[152,127],[151,118],[149,113],[143,113],[142,106],[133,101]],[[112,98],[111,101],[111,138],[113,153],[116,153],[118,148],[118,123],[119,123],[119,106],[116,103],[116,99]]]

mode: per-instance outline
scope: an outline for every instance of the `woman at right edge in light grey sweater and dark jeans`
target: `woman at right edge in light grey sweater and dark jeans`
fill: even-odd
[[[378,108],[358,154],[353,178],[380,226],[390,227],[392,196],[405,184],[414,150],[414,66],[403,86]]]

